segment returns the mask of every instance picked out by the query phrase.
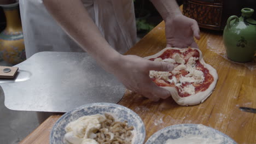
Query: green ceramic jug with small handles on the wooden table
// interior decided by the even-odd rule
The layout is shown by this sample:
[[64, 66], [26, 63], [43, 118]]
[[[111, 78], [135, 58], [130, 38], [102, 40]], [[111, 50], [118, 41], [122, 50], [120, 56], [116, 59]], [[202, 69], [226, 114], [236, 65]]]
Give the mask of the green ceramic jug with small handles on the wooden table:
[[223, 41], [228, 58], [235, 62], [252, 61], [256, 52], [256, 21], [254, 10], [243, 8], [238, 18], [229, 17], [223, 32]]

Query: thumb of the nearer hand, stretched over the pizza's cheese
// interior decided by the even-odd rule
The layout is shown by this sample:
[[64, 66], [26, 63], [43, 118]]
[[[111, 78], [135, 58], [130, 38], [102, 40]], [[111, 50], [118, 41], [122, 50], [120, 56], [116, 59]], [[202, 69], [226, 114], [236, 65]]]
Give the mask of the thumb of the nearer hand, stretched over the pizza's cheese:
[[156, 70], [156, 71], [172, 71], [174, 65], [167, 62], [149, 62], [149, 70]]

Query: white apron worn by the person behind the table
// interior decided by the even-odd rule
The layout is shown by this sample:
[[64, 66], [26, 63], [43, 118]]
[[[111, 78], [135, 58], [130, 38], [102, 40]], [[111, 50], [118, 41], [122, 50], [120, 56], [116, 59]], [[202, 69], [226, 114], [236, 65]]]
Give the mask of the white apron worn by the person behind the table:
[[[115, 50], [125, 53], [136, 43], [132, 0], [82, 2], [104, 38]], [[51, 17], [42, 0], [20, 0], [20, 13], [27, 58], [40, 51], [84, 52]]]

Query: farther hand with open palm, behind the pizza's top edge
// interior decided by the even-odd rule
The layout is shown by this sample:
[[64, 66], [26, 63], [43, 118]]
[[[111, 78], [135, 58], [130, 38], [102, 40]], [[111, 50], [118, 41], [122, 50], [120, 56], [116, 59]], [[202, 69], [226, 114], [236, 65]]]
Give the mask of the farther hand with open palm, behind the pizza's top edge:
[[197, 22], [182, 14], [165, 20], [166, 47], [197, 47], [194, 36], [200, 39]]

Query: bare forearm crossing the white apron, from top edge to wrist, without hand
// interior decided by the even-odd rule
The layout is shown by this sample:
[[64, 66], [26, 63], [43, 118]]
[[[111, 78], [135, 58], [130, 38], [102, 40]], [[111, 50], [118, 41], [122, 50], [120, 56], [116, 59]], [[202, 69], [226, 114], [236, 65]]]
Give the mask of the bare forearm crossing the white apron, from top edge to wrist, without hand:
[[43, 2], [62, 28], [100, 64], [112, 61], [111, 58], [120, 55], [103, 38], [80, 0], [44, 0]]

